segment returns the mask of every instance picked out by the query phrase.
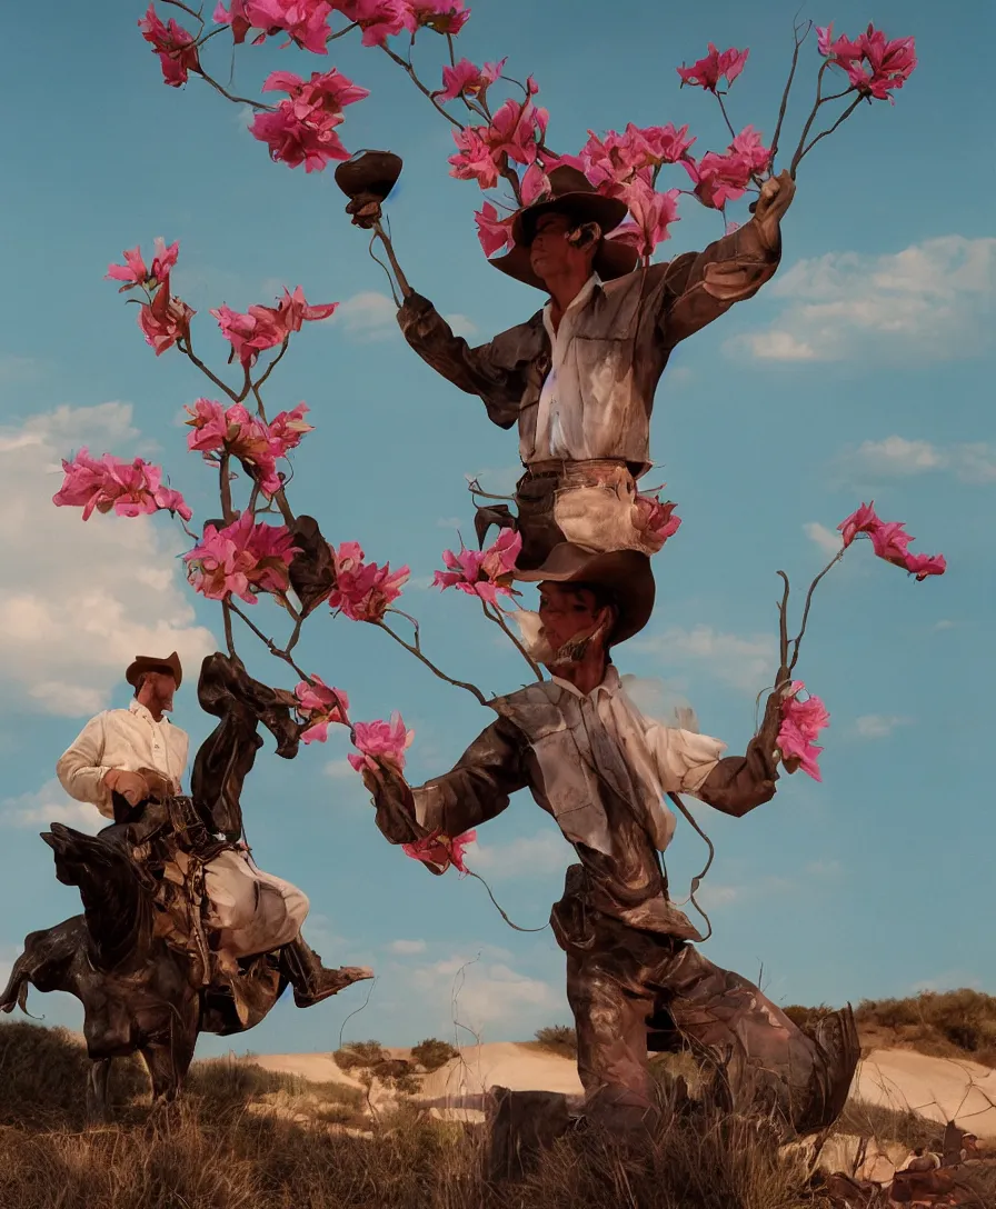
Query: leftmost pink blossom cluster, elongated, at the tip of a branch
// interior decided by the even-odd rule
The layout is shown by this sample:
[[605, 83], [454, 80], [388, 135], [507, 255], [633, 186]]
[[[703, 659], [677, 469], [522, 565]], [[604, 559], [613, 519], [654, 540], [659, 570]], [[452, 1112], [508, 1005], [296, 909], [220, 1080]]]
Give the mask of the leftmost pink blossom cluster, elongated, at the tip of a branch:
[[63, 459], [65, 479], [52, 497], [59, 508], [82, 508], [83, 520], [114, 510], [118, 516], [141, 516], [160, 510], [175, 513], [185, 521], [191, 510], [179, 491], [162, 485], [162, 469], [134, 458], [122, 462], [110, 453], [92, 458], [81, 449], [71, 462]]

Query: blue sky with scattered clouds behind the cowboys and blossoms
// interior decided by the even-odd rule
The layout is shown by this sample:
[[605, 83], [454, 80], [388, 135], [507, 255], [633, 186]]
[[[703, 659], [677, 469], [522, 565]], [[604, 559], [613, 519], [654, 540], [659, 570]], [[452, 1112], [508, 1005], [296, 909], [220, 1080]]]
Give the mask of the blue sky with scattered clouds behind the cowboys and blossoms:
[[[53, 765], [86, 718], [123, 705], [120, 673], [138, 649], [203, 652], [219, 618], [186, 588], [168, 519], [126, 521], [48, 503], [58, 457], [88, 444], [161, 462], [203, 516], [213, 476], [185, 451], [184, 404], [207, 383], [179, 355], [156, 359], [134, 314], [102, 276], [122, 248], [180, 241], [175, 289], [198, 310], [201, 354], [224, 365], [208, 310], [270, 302], [282, 284], [342, 301], [299, 336], [272, 380], [273, 410], [306, 400], [315, 432], [295, 462], [294, 504], [334, 542], [407, 562], [405, 604], [425, 647], [488, 692], [522, 683], [525, 665], [465, 597], [424, 588], [456, 525], [470, 533], [465, 476], [504, 490], [515, 438], [439, 380], [396, 334], [381, 271], [342, 214], [331, 172], [272, 164], [244, 114], [198, 87], [175, 92], [134, 22], [143, 5], [110, 0], [60, 18], [57, 42], [27, 11], [7, 22], [8, 96], [30, 98], [30, 125], [8, 138], [0, 249], [0, 960], [25, 932], [73, 914], [37, 832], [79, 821], [53, 788]], [[791, 50], [792, 4], [711, 2], [673, 10], [636, 0], [622, 22], [578, 0], [477, 0], [459, 48], [510, 56], [551, 110], [551, 141], [575, 150], [601, 131], [691, 123], [696, 151], [725, 144], [711, 98], [678, 89], [674, 65], [713, 40], [749, 46], [731, 97], [734, 122], [771, 133]], [[907, 521], [916, 549], [949, 573], [915, 584], [852, 550], [821, 588], [799, 671], [832, 712], [824, 781], [783, 779], [742, 821], [697, 815], [718, 848], [702, 901], [712, 960], [764, 970], [781, 1002], [840, 1003], [917, 987], [996, 991], [990, 787], [996, 492], [992, 325], [996, 230], [986, 83], [965, 74], [963, 37], [984, 42], [994, 15], [966, 0], [955, 25], [925, 2], [840, 0], [811, 10], [856, 33], [868, 19], [914, 34], [920, 66], [894, 108], [861, 110], [803, 164], [784, 224], [784, 260], [762, 294], [682, 346], [658, 392], [653, 453], [684, 525], [656, 561], [658, 608], [618, 663], [655, 708], [695, 706], [703, 730], [742, 750], [753, 699], [774, 673], [775, 571], [804, 588], [827, 559], [827, 531], [871, 497]], [[22, 28], [23, 27], [23, 28]], [[447, 175], [450, 135], [372, 51], [343, 40], [331, 62], [371, 89], [342, 128], [351, 149], [389, 146], [405, 173], [389, 212], [412, 284], [485, 340], [542, 301], [488, 268], [471, 213], [476, 186]], [[425, 39], [422, 62], [439, 46]], [[253, 92], [274, 65], [311, 70], [294, 50], [244, 48], [236, 81]], [[804, 57], [813, 71], [815, 47]], [[222, 65], [224, 73], [226, 66]], [[427, 68], [428, 77], [434, 70]], [[789, 115], [788, 131], [800, 114]], [[743, 218], [742, 214], [734, 216]], [[677, 254], [717, 235], [685, 204]], [[798, 614], [797, 614], [798, 615]], [[174, 642], [175, 637], [175, 642]], [[279, 665], [241, 647], [257, 675]], [[357, 718], [400, 710], [415, 728], [411, 775], [450, 767], [487, 711], [372, 629], [328, 615], [305, 631], [302, 664], [347, 689]], [[196, 744], [196, 666], [175, 719]], [[312, 943], [332, 965], [377, 968], [369, 1006], [346, 1036], [409, 1043], [451, 1036], [454, 1018], [485, 1040], [521, 1039], [568, 1018], [563, 961], [548, 932], [510, 931], [474, 880], [430, 878], [380, 837], [341, 736], [286, 764], [260, 756], [244, 794], [260, 864], [311, 897]], [[480, 837], [474, 866], [511, 916], [542, 925], [569, 852], [526, 797]], [[668, 852], [674, 893], [701, 864], [683, 822]], [[453, 1008], [454, 977], [465, 962]], [[237, 1048], [330, 1049], [365, 989], [308, 1012], [283, 1002]], [[33, 995], [50, 1022], [79, 1023], [74, 1001]], [[458, 1030], [465, 1040], [467, 1032]], [[227, 1048], [207, 1039], [202, 1052]]]

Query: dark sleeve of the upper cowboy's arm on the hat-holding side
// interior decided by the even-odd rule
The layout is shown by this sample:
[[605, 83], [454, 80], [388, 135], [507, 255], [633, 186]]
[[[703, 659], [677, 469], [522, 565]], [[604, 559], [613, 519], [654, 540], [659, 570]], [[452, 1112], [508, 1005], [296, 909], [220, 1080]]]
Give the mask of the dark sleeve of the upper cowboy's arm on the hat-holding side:
[[423, 361], [461, 391], [482, 399], [488, 418], [499, 428], [511, 428], [519, 418], [528, 368], [545, 339], [538, 316], [476, 348], [456, 336], [421, 294], [405, 299], [398, 311], [398, 323]]

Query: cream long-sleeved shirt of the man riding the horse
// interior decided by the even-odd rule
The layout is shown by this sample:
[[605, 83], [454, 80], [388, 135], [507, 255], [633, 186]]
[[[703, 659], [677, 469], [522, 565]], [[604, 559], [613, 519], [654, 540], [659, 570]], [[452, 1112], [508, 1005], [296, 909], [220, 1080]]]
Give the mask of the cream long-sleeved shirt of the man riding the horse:
[[56, 764], [62, 787], [77, 802], [89, 802], [114, 818], [104, 776], [114, 768], [137, 773], [152, 768], [169, 777], [179, 792], [186, 770], [190, 739], [164, 715], [152, 715], [132, 701], [127, 710], [105, 710], [83, 727]]

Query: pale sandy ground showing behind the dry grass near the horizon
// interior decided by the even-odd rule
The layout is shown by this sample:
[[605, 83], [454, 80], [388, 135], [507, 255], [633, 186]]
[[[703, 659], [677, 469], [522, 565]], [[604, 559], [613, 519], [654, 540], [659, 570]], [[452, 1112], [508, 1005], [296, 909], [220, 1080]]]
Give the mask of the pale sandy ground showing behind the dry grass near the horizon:
[[[394, 1057], [406, 1051], [392, 1049]], [[251, 1059], [267, 1070], [314, 1082], [358, 1087], [328, 1054], [271, 1054]], [[422, 1098], [439, 1107], [479, 1109], [490, 1087], [581, 1094], [574, 1064], [514, 1041], [463, 1051], [459, 1059], [427, 1076]], [[914, 1109], [936, 1121], [954, 1118], [980, 1138], [996, 1138], [996, 1070], [969, 1062], [927, 1058], [905, 1049], [874, 1049], [858, 1069], [852, 1092], [858, 1100]]]

